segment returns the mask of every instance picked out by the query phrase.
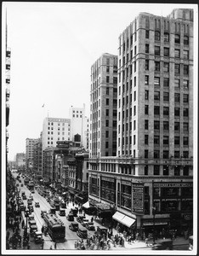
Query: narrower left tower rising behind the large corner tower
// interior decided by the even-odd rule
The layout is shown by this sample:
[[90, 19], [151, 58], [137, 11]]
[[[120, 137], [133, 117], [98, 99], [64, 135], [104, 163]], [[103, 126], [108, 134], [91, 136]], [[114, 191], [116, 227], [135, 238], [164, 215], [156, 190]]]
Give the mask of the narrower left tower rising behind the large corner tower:
[[117, 55], [91, 67], [89, 157], [117, 155]]

